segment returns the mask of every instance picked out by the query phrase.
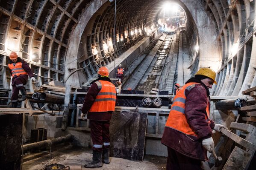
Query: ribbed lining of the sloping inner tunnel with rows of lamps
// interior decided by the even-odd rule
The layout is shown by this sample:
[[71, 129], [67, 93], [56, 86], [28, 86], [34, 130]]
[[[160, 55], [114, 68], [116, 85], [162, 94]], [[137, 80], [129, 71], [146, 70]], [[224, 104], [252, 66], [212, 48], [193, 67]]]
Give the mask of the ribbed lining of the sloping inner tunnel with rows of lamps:
[[[81, 77], [84, 75], [85, 78], [82, 81], [85, 82], [86, 79], [95, 75], [98, 67], [112, 62], [114, 60], [114, 43], [116, 46], [115, 56], [119, 57], [147, 36], [147, 33], [151, 34], [149, 30], [160, 28], [157, 20], [165, 2], [159, 2], [158, 0], [118, 0], [116, 39], [114, 39], [115, 3], [106, 1], [96, 10], [92, 8], [97, 6], [98, 3], [91, 4], [91, 9], [88, 11], [95, 10], [95, 13], [83, 14], [80, 24], [84, 27], [79, 27], [73, 32], [74, 35], [81, 35], [79, 42], [77, 38], [71, 40], [72, 45], [77, 43], [76, 46], [79, 46], [79, 49], [70, 48], [68, 52], [69, 56], [77, 56], [78, 58], [78, 68], [83, 72], [78, 77], [82, 79]], [[197, 26], [185, 4], [179, 0], [170, 2], [179, 4], [185, 10], [188, 18], [186, 27], [190, 31], [188, 38], [197, 42]], [[91, 16], [89, 16], [90, 14]], [[88, 17], [90, 17], [90, 20], [88, 20]], [[75, 58], [70, 59], [70, 61], [74, 60]], [[68, 68], [74, 67], [74, 64], [68, 66]]]

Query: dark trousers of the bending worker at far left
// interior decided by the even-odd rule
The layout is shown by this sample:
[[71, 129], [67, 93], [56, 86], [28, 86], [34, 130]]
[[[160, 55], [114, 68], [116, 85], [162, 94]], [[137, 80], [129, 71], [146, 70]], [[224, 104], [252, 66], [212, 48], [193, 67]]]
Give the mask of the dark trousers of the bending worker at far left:
[[24, 85], [26, 84], [28, 79], [28, 75], [19, 75], [13, 76], [12, 78], [12, 102], [18, 101], [18, 94], [20, 89], [24, 89]]

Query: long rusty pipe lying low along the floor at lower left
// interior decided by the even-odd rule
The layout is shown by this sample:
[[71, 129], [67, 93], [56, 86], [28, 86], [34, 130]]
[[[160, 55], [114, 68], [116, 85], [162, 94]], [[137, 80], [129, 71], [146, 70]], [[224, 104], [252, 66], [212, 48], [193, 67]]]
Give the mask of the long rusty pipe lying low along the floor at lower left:
[[65, 141], [71, 141], [73, 139], [72, 134], [68, 134], [65, 136], [61, 136], [59, 138], [52, 138], [45, 141], [39, 141], [32, 144], [25, 144], [23, 147], [21, 146], [21, 150], [23, 150], [24, 153], [35, 151], [35, 150], [41, 150], [46, 147], [51, 147], [56, 144], [61, 144]]

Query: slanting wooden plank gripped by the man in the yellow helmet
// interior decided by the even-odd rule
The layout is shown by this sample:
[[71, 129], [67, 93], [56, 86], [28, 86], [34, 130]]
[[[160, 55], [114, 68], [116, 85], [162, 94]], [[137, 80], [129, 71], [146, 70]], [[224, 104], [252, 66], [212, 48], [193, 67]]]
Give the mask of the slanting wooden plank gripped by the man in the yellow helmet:
[[227, 137], [229, 137], [230, 139], [232, 139], [233, 141], [235, 141], [236, 143], [240, 144], [243, 147], [246, 147], [249, 150], [256, 150], [256, 145], [252, 144], [251, 142], [245, 140], [244, 138], [239, 137], [238, 135], [235, 135], [234, 133], [230, 132], [227, 129], [221, 128], [221, 132], [226, 135]]

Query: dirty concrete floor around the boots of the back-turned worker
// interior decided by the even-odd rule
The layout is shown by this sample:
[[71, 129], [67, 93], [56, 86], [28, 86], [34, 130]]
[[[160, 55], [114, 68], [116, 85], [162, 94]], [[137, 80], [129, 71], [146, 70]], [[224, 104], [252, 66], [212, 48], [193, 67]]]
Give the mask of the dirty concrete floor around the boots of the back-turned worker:
[[[45, 152], [26, 153], [22, 169], [44, 170], [46, 165], [58, 163], [65, 166], [82, 166], [82, 170], [86, 170], [88, 168], [85, 168], [84, 164], [92, 158], [91, 149], [73, 147], [71, 144], [53, 147], [52, 151], [53, 157], [51, 157], [50, 153]], [[150, 155], [145, 156], [144, 161], [110, 157], [110, 164], [103, 164], [103, 167], [94, 168], [94, 170], [165, 170], [166, 159], [166, 157]]]

